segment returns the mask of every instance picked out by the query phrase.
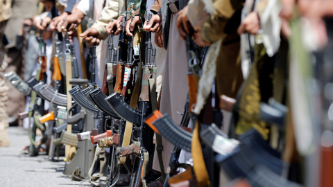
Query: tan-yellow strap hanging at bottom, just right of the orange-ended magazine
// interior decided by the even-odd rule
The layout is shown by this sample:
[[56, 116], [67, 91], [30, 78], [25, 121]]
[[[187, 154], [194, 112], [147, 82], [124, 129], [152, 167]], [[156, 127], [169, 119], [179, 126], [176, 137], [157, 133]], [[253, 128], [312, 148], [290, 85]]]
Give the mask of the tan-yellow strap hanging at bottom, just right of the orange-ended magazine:
[[203, 150], [201, 148], [201, 143], [200, 143], [199, 129], [200, 129], [200, 123], [198, 123], [198, 120], [196, 120], [196, 126], [194, 127], [193, 130], [192, 143], [191, 143], [193, 168], [199, 186], [210, 186], [210, 177], [208, 177], [208, 172], [205, 166], [205, 160], [203, 159]]

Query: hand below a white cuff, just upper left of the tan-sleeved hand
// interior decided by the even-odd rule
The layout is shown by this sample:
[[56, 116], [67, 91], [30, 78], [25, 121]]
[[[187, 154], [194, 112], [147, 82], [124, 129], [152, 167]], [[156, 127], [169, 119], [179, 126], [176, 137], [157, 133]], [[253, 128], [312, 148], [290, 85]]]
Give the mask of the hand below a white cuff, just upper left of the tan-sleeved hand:
[[69, 26], [68, 30], [75, 30], [76, 27], [81, 23], [85, 14], [81, 10], [75, 10], [75, 12], [64, 19], [60, 20], [57, 26], [58, 32], [62, 32], [63, 29]]

